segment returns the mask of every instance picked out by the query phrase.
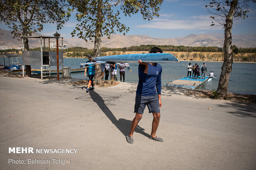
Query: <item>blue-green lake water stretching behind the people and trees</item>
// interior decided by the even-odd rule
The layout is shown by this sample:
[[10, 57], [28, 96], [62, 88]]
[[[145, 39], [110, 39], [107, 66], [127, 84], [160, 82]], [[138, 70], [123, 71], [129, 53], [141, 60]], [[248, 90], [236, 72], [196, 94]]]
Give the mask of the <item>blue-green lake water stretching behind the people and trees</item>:
[[[64, 67], [80, 68], [80, 63], [85, 63], [88, 61], [87, 58], [64, 58]], [[21, 63], [21, 61], [19, 61]], [[197, 63], [201, 67], [203, 62], [190, 61], [192, 66]], [[162, 85], [171, 80], [177, 80], [182, 77], [187, 76], [187, 65], [189, 62], [180, 61], [179, 63], [161, 63], [162, 66]], [[220, 76], [221, 67], [223, 62], [205, 62], [207, 67], [207, 75], [213, 71], [215, 76]], [[39, 69], [40, 67], [32, 67]], [[52, 66], [51, 69], [57, 69], [57, 67]], [[60, 67], [59, 69], [62, 69]], [[126, 69], [126, 82], [137, 83], [138, 78], [138, 64], [130, 63], [130, 70]], [[201, 72], [201, 71], [200, 71]], [[119, 70], [118, 70], [118, 80], [120, 80]], [[72, 78], [86, 79], [84, 77], [84, 72], [71, 73]], [[109, 76], [110, 78], [110, 76]], [[213, 78], [209, 82], [205, 82], [199, 87], [199, 89], [204, 90], [216, 90], [218, 87], [219, 78]], [[238, 94], [254, 94], [256, 95], [256, 64], [255, 63], [233, 63], [232, 72], [230, 74], [230, 82], [228, 86], [228, 92], [238, 93]]]

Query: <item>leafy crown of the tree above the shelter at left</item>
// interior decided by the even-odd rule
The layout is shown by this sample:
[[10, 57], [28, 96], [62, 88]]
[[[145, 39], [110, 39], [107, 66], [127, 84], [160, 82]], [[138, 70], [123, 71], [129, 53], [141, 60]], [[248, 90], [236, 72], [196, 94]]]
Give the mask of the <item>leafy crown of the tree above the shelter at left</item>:
[[59, 30], [70, 16], [64, 11], [64, 2], [65, 0], [1, 0], [0, 21], [8, 25], [14, 37], [18, 38], [42, 31], [44, 23], [54, 23]]

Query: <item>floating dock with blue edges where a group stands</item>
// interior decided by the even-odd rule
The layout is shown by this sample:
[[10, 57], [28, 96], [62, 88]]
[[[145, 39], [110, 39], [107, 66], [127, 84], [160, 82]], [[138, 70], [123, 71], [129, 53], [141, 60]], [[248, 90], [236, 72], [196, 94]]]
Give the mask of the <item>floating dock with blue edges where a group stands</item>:
[[206, 80], [208, 80], [209, 77], [205, 76], [204, 79], [201, 79], [201, 77], [199, 76], [198, 79], [195, 78], [188, 78], [188, 77], [184, 77], [184, 78], [180, 78], [178, 80], [173, 80], [171, 82], [168, 82], [164, 85], [167, 86], [175, 86], [175, 87], [183, 87], [183, 88], [189, 88], [189, 89], [196, 89], [197, 87], [199, 87], [201, 84], [203, 84]]

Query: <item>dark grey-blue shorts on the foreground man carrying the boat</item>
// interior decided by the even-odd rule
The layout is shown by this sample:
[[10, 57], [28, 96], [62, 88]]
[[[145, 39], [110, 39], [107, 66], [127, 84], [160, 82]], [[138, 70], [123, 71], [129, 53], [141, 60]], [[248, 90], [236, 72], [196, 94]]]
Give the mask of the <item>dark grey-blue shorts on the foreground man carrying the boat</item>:
[[149, 109], [149, 113], [160, 113], [158, 95], [142, 96], [140, 94], [136, 94], [134, 113], [142, 114], [146, 106]]

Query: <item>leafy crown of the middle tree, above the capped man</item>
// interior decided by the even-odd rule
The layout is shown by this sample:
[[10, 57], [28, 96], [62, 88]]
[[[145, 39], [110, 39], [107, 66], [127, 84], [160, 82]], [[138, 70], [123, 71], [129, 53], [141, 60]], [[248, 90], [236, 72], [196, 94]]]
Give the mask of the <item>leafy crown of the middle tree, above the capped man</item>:
[[[152, 20], [154, 16], [159, 16], [158, 11], [163, 0], [116, 0], [116, 1], [102, 1], [102, 0], [68, 0], [71, 7], [69, 12], [76, 10], [76, 24], [75, 29], [71, 33], [72, 37], [78, 36], [85, 41], [94, 41], [95, 37], [102, 37], [103, 35], [110, 38], [111, 34], [117, 32], [129, 31], [129, 27], [121, 23], [120, 11], [121, 9], [125, 16], [137, 14], [140, 12], [144, 19]], [[100, 34], [97, 33], [100, 29]]]

